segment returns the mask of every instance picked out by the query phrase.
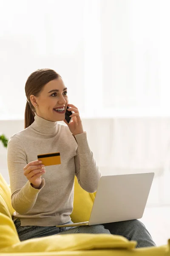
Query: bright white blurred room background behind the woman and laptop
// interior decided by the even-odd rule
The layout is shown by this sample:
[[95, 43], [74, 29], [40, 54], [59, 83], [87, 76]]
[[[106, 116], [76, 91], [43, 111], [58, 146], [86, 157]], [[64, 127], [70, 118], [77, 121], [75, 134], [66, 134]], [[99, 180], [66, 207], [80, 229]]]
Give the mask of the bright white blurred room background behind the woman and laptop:
[[[143, 222], [170, 238], [170, 1], [0, 0], [0, 133], [24, 128], [28, 76], [52, 68], [102, 175], [155, 172]], [[9, 182], [6, 149], [1, 172]]]

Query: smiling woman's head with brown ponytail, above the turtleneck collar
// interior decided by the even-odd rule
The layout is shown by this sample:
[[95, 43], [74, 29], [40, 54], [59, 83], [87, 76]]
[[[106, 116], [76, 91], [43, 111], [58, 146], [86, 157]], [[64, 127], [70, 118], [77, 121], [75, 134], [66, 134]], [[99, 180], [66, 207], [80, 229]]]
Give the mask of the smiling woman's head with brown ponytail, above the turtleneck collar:
[[[68, 105], [67, 88], [51, 69], [33, 72], [26, 81], [25, 128], [34, 122], [34, 112], [49, 121], [62, 121]], [[59, 111], [62, 109], [62, 112]], [[61, 115], [62, 114], [62, 115]]]

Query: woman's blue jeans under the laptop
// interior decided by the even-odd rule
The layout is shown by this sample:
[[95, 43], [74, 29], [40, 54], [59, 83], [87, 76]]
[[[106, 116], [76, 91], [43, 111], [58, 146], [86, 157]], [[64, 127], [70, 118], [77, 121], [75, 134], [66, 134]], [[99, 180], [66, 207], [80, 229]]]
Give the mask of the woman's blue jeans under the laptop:
[[[69, 221], [68, 223], [73, 223]], [[23, 226], [21, 227], [20, 219], [14, 221], [20, 241], [43, 237], [53, 236], [56, 234], [71, 233], [95, 233], [95, 234], [112, 234], [124, 236], [126, 239], [137, 241], [136, 247], [156, 246], [150, 233], [144, 224], [139, 220], [119, 221], [94, 226], [80, 227], [40, 227], [40, 226]]]

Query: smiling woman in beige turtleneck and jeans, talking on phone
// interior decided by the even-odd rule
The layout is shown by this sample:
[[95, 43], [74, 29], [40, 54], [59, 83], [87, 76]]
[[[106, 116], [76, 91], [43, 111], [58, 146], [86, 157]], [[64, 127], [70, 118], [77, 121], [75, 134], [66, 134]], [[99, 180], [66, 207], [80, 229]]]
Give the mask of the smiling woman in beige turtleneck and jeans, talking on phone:
[[[25, 129], [8, 142], [8, 171], [13, 216], [20, 240], [58, 233], [107, 233], [136, 240], [137, 247], [155, 246], [138, 220], [84, 227], [56, 227], [72, 223], [74, 177], [87, 192], [95, 192], [100, 178], [83, 130], [78, 109], [68, 104], [67, 88], [54, 70], [32, 73], [25, 86]], [[70, 107], [72, 122], [65, 121]], [[66, 125], [57, 121], [64, 121]], [[61, 165], [45, 166], [38, 154], [60, 152]], [[42, 178], [43, 177], [43, 178]]]

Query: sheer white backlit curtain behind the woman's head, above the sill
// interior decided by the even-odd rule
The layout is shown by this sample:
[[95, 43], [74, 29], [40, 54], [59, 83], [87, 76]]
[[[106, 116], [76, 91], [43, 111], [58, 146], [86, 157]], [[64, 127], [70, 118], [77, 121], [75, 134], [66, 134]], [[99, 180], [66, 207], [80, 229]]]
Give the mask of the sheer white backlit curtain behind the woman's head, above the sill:
[[0, 118], [23, 119], [26, 79], [43, 67], [61, 74], [82, 116], [169, 116], [169, 9], [169, 0], [1, 1]]

